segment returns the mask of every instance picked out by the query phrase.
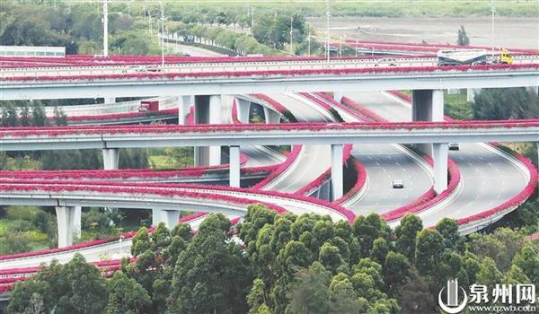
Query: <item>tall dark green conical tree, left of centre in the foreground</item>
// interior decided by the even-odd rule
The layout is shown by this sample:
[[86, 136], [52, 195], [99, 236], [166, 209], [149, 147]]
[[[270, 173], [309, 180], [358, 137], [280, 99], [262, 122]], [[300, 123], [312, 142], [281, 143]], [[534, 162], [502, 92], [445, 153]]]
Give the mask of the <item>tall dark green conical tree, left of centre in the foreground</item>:
[[252, 275], [240, 248], [228, 242], [218, 216], [211, 214], [202, 222], [199, 233], [178, 257], [167, 300], [168, 312], [247, 311], [245, 297]]

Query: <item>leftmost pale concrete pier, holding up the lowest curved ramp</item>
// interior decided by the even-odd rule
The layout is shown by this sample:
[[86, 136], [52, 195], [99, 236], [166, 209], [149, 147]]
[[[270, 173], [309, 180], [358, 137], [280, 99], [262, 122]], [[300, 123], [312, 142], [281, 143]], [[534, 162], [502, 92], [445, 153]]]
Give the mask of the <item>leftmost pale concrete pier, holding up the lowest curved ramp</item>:
[[57, 206], [58, 248], [73, 244], [81, 235], [81, 206]]

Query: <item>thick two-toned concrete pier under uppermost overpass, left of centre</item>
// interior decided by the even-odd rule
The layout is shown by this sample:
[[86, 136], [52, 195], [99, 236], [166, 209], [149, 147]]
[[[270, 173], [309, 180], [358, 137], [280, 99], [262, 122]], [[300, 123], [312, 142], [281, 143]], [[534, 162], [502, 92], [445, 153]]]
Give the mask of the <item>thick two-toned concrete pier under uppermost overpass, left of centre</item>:
[[[221, 96], [195, 96], [195, 124], [221, 123]], [[221, 146], [195, 147], [195, 165], [221, 164]]]

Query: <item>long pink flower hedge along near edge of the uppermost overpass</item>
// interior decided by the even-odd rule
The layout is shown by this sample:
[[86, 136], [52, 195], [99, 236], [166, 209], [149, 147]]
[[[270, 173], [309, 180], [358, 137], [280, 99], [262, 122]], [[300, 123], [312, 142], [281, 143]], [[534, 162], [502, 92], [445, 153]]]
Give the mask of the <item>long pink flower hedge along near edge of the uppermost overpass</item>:
[[96, 80], [181, 80], [183, 78], [218, 77], [267, 77], [267, 76], [308, 76], [308, 75], [383, 75], [383, 74], [432, 74], [459, 72], [526, 71], [537, 70], [539, 64], [513, 65], [456, 65], [456, 66], [395, 66], [373, 68], [330, 68], [303, 70], [260, 70], [260, 71], [220, 71], [199, 73], [143, 73], [143, 74], [85, 74], [85, 75], [43, 75], [23, 77], [2, 77], [0, 81], [76, 81], [93, 82]]

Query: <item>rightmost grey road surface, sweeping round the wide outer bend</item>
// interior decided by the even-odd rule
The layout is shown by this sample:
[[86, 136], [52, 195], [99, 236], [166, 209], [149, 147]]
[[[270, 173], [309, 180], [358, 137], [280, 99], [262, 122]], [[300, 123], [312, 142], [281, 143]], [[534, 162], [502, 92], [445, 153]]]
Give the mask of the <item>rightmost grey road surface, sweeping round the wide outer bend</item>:
[[[367, 109], [391, 121], [410, 121], [411, 107], [402, 101], [390, 99], [381, 92], [347, 94]], [[459, 166], [462, 192], [450, 204], [429, 209], [419, 214], [426, 227], [441, 218], [464, 218], [485, 212], [508, 201], [526, 187], [526, 175], [499, 150], [486, 144], [461, 144], [460, 151], [451, 151], [449, 157]]]

